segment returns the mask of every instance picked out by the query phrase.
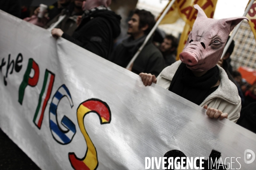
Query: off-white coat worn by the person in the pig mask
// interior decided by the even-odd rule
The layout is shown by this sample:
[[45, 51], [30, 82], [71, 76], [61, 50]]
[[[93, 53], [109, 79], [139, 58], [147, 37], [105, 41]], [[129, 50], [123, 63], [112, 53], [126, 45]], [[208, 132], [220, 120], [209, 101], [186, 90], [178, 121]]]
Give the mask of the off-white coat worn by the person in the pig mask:
[[[157, 85], [168, 90], [180, 64], [181, 61], [177, 61], [163, 69], [157, 77]], [[215, 108], [223, 113], [228, 113], [227, 119], [236, 122], [240, 117], [241, 98], [236, 85], [228, 79], [224, 69], [219, 66], [218, 68], [220, 70], [220, 85], [200, 106], [208, 105], [208, 108]]]

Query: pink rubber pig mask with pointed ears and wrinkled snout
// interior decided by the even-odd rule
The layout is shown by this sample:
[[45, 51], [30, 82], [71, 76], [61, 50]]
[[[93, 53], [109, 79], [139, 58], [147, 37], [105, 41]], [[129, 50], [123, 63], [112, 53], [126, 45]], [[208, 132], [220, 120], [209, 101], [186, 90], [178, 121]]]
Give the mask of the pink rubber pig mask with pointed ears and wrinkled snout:
[[198, 14], [180, 60], [192, 71], [207, 71], [217, 65], [230, 32], [247, 17], [216, 20], [207, 18], [198, 5], [194, 8]]

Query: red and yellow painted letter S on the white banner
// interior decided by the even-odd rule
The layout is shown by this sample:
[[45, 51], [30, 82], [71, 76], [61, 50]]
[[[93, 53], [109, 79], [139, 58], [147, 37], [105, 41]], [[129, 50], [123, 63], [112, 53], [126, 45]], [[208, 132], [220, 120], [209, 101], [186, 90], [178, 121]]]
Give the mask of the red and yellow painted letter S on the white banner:
[[88, 99], [79, 105], [77, 109], [77, 120], [81, 133], [84, 135], [87, 150], [82, 159], [77, 158], [75, 153], [69, 153], [70, 163], [75, 170], [95, 170], [99, 164], [96, 148], [84, 127], [84, 116], [91, 112], [99, 116], [101, 125], [111, 122], [111, 111], [107, 103], [99, 99]]

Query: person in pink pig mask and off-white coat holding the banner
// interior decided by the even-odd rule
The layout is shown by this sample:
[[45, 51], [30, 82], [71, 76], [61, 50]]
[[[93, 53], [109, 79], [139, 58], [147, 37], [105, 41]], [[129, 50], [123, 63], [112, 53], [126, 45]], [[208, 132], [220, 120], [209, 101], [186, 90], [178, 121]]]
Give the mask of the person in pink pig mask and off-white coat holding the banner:
[[217, 63], [230, 32], [247, 18], [216, 20], [207, 18], [198, 5], [194, 8], [198, 15], [180, 60], [163, 69], [157, 78], [147, 73], [140, 73], [140, 77], [145, 86], [154, 82], [204, 107], [210, 118], [236, 122], [240, 116], [241, 99], [236, 85]]

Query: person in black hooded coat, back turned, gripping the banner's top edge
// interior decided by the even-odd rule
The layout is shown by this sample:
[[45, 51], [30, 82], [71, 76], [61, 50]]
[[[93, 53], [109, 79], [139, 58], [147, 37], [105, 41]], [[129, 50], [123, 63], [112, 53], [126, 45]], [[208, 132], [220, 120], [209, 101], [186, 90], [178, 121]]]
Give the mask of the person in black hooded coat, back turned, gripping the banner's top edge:
[[83, 2], [84, 14], [81, 23], [72, 36], [59, 28], [52, 29], [53, 37], [63, 37], [94, 54], [108, 59], [113, 40], [120, 34], [121, 17], [111, 11], [108, 6], [111, 0], [86, 0]]

